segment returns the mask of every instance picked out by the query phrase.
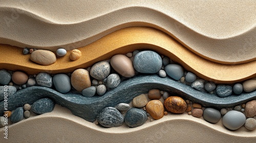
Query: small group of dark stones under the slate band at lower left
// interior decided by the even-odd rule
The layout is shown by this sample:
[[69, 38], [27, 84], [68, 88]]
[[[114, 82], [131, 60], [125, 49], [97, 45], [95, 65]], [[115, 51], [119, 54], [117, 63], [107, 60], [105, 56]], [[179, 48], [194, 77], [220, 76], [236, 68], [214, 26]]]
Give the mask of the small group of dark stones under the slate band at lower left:
[[32, 106], [25, 104], [23, 107], [18, 107], [13, 111], [5, 111], [4, 116], [0, 116], [0, 127], [5, 127], [6, 120], [9, 120], [12, 123], [17, 123], [24, 118], [29, 118], [31, 112], [35, 114], [44, 114], [51, 112], [54, 108], [54, 102], [49, 98], [43, 98], [35, 101]]

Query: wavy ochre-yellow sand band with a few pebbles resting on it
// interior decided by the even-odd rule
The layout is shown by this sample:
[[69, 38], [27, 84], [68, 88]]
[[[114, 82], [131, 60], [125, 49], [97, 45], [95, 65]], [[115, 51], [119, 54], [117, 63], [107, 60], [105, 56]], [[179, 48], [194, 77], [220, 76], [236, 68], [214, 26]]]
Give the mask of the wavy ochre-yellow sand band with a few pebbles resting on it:
[[134, 50], [153, 50], [168, 56], [180, 63], [186, 70], [208, 81], [236, 83], [256, 77], [256, 61], [233, 65], [215, 63], [189, 51], [164, 32], [148, 27], [130, 27], [115, 31], [89, 45], [78, 48], [82, 52], [80, 59], [71, 61], [70, 51], [68, 51], [66, 56], [58, 58], [54, 64], [48, 66], [33, 63], [30, 61], [30, 54], [23, 55], [21, 48], [0, 44], [0, 49], [2, 51], [1, 69], [23, 70], [29, 75], [40, 72], [68, 73], [77, 68], [90, 67], [116, 54], [126, 54]]

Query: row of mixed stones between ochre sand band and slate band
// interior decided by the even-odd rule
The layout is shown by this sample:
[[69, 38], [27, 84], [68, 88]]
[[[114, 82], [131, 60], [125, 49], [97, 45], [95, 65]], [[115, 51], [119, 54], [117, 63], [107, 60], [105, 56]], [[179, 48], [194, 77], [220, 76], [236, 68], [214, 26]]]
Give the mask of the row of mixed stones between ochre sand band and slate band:
[[[247, 80], [243, 82], [243, 84], [234, 84], [233, 87], [224, 84], [220, 84], [216, 87], [215, 83], [199, 79], [195, 74], [184, 71], [182, 66], [173, 63], [168, 57], [161, 57], [153, 51], [139, 52], [137, 50], [133, 53], [127, 53], [126, 56], [115, 55], [110, 61], [95, 63], [92, 67], [87, 68], [87, 70], [82, 68], [77, 69], [72, 73], [72, 76], [57, 74], [53, 78], [53, 83], [55, 83], [56, 90], [61, 93], [69, 92], [72, 85], [77, 91], [83, 90], [82, 94], [84, 96], [93, 97], [96, 90], [97, 94], [102, 96], [107, 89], [117, 87], [121, 81], [118, 74], [110, 74], [111, 66], [119, 75], [126, 78], [133, 77], [138, 74], [138, 72], [145, 74], [158, 73], [162, 78], [166, 77], [167, 74], [169, 77], [197, 90], [216, 93], [220, 97], [230, 96], [232, 92], [240, 94], [243, 90], [245, 92], [256, 90], [255, 79]], [[92, 83], [90, 76], [94, 78]], [[16, 71], [11, 76], [8, 71], [3, 69], [0, 70], [0, 77], [3, 77], [0, 79], [0, 84], [3, 85], [12, 85], [12, 83], [9, 83], [12, 79], [14, 83], [22, 85], [23, 88], [36, 85], [36, 83], [40, 86], [52, 87], [52, 76], [47, 73], [38, 74], [36, 76], [36, 82], [33, 78], [28, 79], [28, 76], [21, 71]], [[92, 84], [94, 86], [92, 86]]]

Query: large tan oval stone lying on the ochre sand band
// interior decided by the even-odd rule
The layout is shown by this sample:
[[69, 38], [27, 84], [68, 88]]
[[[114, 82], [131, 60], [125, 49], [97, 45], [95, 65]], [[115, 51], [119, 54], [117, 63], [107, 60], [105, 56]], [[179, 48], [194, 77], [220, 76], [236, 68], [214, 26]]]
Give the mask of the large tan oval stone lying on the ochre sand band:
[[30, 60], [41, 65], [50, 65], [56, 62], [56, 56], [51, 51], [36, 50], [31, 53]]

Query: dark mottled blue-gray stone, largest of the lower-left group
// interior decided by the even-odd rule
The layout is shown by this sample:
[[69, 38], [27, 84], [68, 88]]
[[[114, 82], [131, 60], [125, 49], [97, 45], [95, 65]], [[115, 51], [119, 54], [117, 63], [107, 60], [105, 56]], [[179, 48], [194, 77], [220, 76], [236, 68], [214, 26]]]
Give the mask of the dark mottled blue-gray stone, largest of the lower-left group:
[[39, 99], [32, 105], [32, 111], [37, 114], [51, 112], [54, 108], [54, 102], [49, 98]]

